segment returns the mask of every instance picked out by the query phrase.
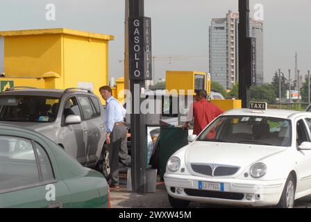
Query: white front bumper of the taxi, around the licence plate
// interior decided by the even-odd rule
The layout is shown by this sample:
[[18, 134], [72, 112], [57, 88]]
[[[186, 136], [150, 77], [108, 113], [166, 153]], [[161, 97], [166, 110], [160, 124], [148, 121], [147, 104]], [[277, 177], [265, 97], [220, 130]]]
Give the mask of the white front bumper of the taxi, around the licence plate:
[[[286, 179], [269, 181], [240, 180], [235, 178], [203, 178], [169, 173], [165, 173], [164, 179], [167, 192], [173, 198], [201, 203], [253, 207], [277, 205], [286, 182]], [[224, 189], [223, 191], [199, 189], [199, 181], [223, 183]], [[177, 188], [180, 188], [178, 192]]]

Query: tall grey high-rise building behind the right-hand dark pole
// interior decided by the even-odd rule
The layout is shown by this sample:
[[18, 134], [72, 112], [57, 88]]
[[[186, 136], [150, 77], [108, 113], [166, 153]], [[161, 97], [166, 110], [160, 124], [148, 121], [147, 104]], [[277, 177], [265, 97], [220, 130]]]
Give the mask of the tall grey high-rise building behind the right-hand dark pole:
[[[211, 79], [224, 89], [238, 80], [239, 14], [229, 11], [225, 18], [212, 19], [209, 27]], [[250, 37], [256, 37], [256, 84], [263, 83], [263, 22], [250, 19]]]

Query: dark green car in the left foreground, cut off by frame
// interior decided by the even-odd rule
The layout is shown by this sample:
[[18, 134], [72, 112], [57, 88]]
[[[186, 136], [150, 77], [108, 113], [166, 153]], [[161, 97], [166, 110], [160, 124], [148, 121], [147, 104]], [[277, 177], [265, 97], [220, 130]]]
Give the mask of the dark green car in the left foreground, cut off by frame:
[[109, 207], [103, 175], [47, 137], [0, 125], [0, 208]]

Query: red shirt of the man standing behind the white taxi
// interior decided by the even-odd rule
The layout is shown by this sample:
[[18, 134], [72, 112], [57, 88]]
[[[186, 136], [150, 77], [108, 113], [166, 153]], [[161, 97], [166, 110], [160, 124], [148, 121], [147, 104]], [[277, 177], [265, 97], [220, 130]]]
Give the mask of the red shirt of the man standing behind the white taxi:
[[193, 117], [194, 117], [194, 128], [193, 134], [199, 135], [202, 130], [208, 124], [213, 121], [216, 117], [222, 114], [224, 111], [221, 110], [217, 105], [210, 103], [205, 99], [193, 103]]

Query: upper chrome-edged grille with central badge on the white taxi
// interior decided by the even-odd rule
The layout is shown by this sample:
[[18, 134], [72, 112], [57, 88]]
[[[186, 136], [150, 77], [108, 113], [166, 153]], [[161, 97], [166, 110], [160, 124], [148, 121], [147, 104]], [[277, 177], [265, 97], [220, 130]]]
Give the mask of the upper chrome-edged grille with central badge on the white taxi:
[[207, 176], [231, 176], [239, 171], [239, 167], [217, 164], [191, 164], [191, 168], [194, 172]]

